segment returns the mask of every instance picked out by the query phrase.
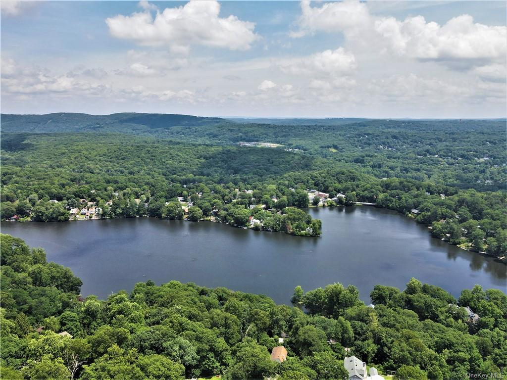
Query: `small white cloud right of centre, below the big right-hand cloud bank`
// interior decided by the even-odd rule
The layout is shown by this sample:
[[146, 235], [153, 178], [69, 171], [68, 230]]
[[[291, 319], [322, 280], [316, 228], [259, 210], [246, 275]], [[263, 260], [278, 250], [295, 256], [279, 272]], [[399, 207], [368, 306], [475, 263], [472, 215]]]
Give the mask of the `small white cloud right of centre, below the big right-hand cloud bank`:
[[280, 63], [283, 72], [291, 74], [343, 74], [356, 67], [355, 57], [343, 48], [325, 50], [308, 57], [289, 60]]

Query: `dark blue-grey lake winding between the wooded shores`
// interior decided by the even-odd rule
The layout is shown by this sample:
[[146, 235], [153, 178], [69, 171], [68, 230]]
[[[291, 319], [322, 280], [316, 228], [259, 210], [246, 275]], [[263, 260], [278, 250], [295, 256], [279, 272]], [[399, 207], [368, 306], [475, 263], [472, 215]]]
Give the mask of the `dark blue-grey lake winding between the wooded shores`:
[[475, 284], [505, 292], [504, 264], [433, 239], [401, 214], [368, 206], [309, 212], [322, 220], [320, 238], [157, 218], [2, 222], [2, 233], [43, 247], [48, 261], [83, 280], [83, 295], [101, 298], [149, 279], [225, 286], [277, 303], [289, 303], [297, 285], [334, 282], [357, 286], [368, 302], [374, 285], [404, 289], [411, 277], [455, 296]]

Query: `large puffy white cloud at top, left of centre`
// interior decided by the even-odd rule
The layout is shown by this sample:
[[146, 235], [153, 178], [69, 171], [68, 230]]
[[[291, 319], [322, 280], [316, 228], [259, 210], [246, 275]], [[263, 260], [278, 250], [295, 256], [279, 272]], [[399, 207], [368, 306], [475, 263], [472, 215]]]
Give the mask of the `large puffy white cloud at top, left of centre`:
[[107, 18], [106, 23], [119, 39], [144, 46], [169, 46], [178, 53], [187, 53], [192, 45], [247, 50], [258, 39], [254, 23], [233, 15], [221, 18], [219, 14], [217, 1], [191, 0], [182, 7], [157, 11], [155, 18], [146, 10]]

